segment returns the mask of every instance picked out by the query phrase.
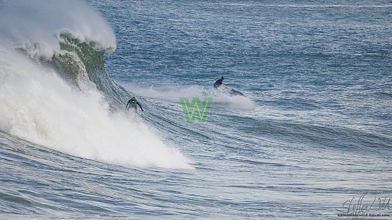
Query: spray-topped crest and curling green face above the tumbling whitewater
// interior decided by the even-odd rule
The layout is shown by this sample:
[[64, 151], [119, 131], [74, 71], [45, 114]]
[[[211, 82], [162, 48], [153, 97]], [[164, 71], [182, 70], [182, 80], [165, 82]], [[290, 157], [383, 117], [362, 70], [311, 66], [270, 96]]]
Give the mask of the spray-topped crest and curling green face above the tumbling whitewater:
[[116, 48], [115, 34], [91, 7], [81, 1], [9, 1], [0, 18], [5, 45], [55, 69], [71, 85], [81, 88], [91, 81], [123, 102], [125, 90], [104, 68], [105, 53]]

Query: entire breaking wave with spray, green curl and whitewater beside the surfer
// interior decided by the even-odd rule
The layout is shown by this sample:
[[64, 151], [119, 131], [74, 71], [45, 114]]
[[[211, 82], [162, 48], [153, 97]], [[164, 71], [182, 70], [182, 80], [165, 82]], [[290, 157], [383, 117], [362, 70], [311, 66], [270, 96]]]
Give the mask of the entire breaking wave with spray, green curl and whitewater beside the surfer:
[[137, 115], [104, 56], [108, 23], [81, 1], [4, 1], [0, 9], [0, 132], [77, 157], [190, 168]]

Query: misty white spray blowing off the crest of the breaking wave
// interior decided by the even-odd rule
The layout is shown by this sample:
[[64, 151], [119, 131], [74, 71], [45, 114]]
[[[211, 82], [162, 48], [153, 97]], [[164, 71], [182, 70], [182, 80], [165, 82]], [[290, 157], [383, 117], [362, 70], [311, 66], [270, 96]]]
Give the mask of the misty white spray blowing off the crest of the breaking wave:
[[116, 47], [113, 29], [98, 11], [82, 1], [2, 1], [2, 43], [25, 48], [34, 57], [51, 58], [60, 51], [61, 33], [71, 33], [81, 41], [94, 41], [113, 51]]

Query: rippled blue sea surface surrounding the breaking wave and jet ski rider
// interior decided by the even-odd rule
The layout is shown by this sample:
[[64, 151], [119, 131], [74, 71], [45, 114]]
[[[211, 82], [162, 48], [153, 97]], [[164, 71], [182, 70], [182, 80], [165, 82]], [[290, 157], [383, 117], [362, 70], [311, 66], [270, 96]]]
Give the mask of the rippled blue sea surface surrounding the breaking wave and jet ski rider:
[[[137, 139], [190, 162], [166, 166], [143, 141], [116, 150], [154, 157], [100, 162], [2, 132], [0, 218], [391, 218], [391, 3], [88, 4], [117, 38], [105, 69], [145, 109], [129, 117], [154, 135]], [[246, 97], [213, 90], [222, 75]], [[180, 98], [203, 91], [207, 120], [188, 123]], [[108, 147], [121, 145], [110, 128]]]

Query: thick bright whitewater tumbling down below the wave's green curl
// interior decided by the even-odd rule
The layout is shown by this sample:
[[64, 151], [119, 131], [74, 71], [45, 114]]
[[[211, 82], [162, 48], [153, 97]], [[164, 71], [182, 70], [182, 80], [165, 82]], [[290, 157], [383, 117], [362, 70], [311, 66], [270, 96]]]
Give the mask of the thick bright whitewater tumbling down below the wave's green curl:
[[0, 50], [0, 131], [78, 157], [138, 167], [192, 168], [135, 115], [108, 115], [97, 90]]

